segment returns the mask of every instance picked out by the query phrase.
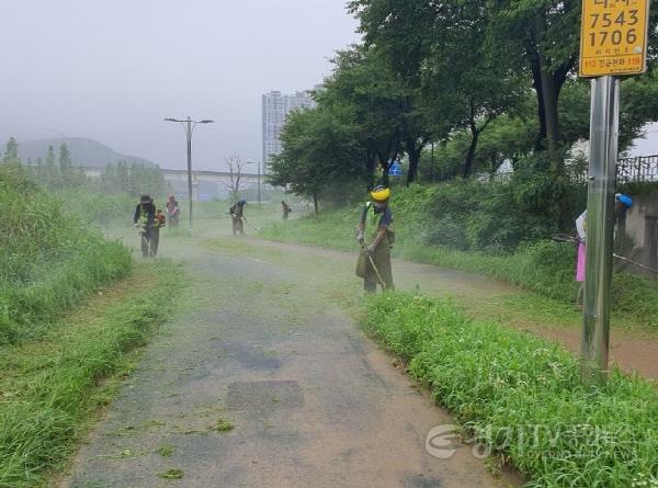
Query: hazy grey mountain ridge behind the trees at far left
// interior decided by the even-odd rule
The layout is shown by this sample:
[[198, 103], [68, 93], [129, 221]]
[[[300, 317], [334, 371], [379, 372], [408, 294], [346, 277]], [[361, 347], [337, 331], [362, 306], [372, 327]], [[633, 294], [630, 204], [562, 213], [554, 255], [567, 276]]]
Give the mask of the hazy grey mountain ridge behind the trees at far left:
[[[122, 155], [98, 140], [87, 139], [84, 137], [65, 137], [64, 139], [27, 141], [19, 140], [19, 157], [23, 161], [27, 161], [27, 158], [32, 159], [32, 161], [36, 161], [37, 158], [45, 160], [48, 152], [48, 146], [53, 146], [55, 149], [55, 157], [57, 158], [61, 143], [66, 143], [68, 146], [71, 151], [71, 159], [76, 166], [104, 168], [109, 162], [116, 163], [122, 159], [128, 161], [128, 164], [133, 162], [155, 164], [154, 162], [137, 156]], [[4, 144], [0, 146], [0, 154], [4, 152]]]

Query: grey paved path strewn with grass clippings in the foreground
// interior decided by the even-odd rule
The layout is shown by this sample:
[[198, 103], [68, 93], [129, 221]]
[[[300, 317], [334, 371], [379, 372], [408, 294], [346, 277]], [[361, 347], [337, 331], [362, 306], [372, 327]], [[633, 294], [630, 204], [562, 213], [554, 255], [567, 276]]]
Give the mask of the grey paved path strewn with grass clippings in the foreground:
[[494, 479], [465, 446], [445, 461], [428, 454], [428, 431], [451, 418], [345, 315], [360, 295], [347, 256], [163, 237], [162, 254], [183, 260], [192, 284], [61, 487], [515, 483]]

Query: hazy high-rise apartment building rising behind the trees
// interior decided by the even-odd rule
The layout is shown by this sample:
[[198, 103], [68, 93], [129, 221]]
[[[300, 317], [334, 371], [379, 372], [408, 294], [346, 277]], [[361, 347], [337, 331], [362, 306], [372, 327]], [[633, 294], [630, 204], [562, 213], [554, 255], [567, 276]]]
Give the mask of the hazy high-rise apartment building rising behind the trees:
[[263, 99], [263, 170], [266, 173], [272, 156], [281, 154], [281, 129], [287, 114], [297, 109], [313, 109], [316, 103], [307, 91], [286, 95], [271, 91]]

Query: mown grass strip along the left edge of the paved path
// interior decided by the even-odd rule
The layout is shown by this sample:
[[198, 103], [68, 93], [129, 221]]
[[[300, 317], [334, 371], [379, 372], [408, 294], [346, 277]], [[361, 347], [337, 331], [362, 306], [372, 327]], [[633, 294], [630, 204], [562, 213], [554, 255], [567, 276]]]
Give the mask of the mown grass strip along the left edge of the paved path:
[[[168, 314], [180, 270], [167, 262], [52, 324], [38, 340], [0, 347], [0, 487], [43, 486], [75, 451], [94, 412]], [[114, 376], [113, 376], [114, 375]], [[114, 377], [114, 382], [105, 378]]]

